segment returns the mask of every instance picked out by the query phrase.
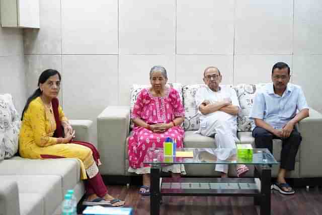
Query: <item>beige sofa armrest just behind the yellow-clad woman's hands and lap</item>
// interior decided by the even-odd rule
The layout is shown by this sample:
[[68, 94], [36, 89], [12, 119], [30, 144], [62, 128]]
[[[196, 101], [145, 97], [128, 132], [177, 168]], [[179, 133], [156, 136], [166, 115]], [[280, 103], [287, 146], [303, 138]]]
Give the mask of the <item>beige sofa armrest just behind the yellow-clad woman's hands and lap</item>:
[[78, 141], [90, 141], [90, 128], [93, 124], [92, 120], [69, 120], [71, 127], [75, 130], [75, 139]]

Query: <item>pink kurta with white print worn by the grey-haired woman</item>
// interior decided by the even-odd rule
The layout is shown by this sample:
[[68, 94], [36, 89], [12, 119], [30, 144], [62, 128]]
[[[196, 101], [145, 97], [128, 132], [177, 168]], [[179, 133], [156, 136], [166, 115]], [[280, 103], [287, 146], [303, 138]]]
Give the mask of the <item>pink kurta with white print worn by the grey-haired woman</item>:
[[[168, 89], [164, 97], [153, 97], [148, 89], [143, 89], [138, 94], [131, 118], [156, 124], [170, 123], [175, 118], [184, 116], [180, 95], [175, 89]], [[135, 126], [133, 135], [129, 138], [129, 166], [133, 169], [148, 167], [149, 165], [143, 164], [147, 149], [162, 148], [168, 136], [177, 139], [177, 148], [182, 148], [184, 134], [181, 126], [169, 128], [164, 133], [154, 133], [144, 127]], [[147, 156], [145, 159], [152, 158]]]

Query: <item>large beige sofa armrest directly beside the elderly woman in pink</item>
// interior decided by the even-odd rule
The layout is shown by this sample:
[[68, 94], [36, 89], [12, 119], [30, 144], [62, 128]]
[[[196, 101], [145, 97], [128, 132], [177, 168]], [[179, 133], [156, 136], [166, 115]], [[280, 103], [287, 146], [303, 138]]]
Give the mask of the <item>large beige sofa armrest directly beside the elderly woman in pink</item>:
[[97, 117], [102, 175], [125, 175], [125, 140], [129, 127], [129, 106], [109, 106]]

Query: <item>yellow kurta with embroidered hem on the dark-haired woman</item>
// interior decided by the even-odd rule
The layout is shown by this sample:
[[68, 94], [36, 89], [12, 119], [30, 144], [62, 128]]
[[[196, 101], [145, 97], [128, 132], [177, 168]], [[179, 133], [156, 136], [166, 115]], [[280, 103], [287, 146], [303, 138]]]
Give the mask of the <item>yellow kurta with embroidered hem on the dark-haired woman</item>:
[[[61, 106], [58, 106], [60, 121], [68, 121]], [[40, 97], [30, 102], [24, 113], [19, 137], [21, 157], [43, 159], [41, 155], [52, 155], [64, 158], [77, 158], [81, 161], [82, 179], [98, 173], [98, 167], [92, 156], [92, 150], [77, 144], [57, 144], [53, 137], [56, 122], [53, 111], [44, 105]], [[87, 174], [86, 174], [87, 173]]]

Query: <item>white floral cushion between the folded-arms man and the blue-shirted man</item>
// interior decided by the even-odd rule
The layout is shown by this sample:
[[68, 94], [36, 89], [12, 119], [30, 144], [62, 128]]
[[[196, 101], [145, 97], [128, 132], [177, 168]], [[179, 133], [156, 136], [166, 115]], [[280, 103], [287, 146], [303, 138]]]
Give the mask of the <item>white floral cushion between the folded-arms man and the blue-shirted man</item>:
[[256, 91], [263, 88], [266, 84], [247, 85], [240, 84], [234, 86], [240, 105], [240, 112], [237, 115], [237, 131], [251, 131], [254, 120], [249, 118], [251, 108], [254, 103]]

